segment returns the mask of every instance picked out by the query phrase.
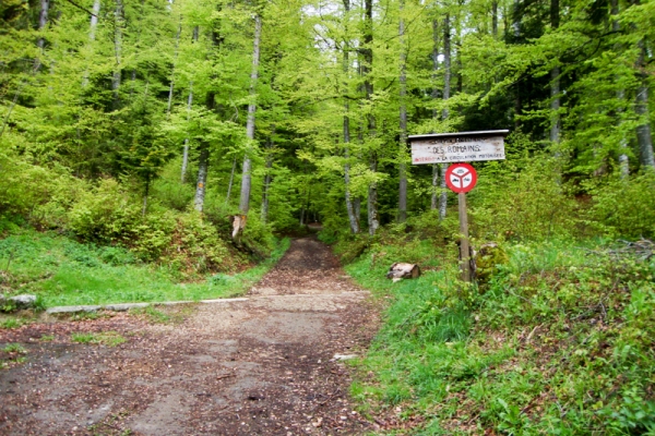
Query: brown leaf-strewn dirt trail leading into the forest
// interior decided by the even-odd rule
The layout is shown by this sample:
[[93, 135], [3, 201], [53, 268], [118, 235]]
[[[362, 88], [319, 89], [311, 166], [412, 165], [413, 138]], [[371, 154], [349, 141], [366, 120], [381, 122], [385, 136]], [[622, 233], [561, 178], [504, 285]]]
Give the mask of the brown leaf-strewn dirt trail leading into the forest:
[[[315, 239], [295, 240], [247, 302], [170, 308], [176, 324], [119, 314], [0, 330], [27, 362], [0, 371], [0, 434], [357, 435], [349, 370], [374, 311]], [[72, 332], [117, 331], [110, 348]], [[44, 335], [53, 336], [45, 342]]]

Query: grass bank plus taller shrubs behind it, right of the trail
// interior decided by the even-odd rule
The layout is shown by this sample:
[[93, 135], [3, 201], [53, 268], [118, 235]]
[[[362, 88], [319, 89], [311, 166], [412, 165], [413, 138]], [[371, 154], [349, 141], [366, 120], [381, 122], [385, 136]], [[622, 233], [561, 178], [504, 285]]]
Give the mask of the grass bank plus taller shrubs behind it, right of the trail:
[[[502, 202], [472, 195], [474, 245], [493, 237], [507, 254], [477, 286], [458, 280], [452, 213], [372, 240], [323, 235], [389, 302], [352, 393], [364, 413], [396, 415], [390, 434], [655, 434], [651, 175], [579, 199], [541, 181]], [[393, 283], [394, 262], [424, 274]]]

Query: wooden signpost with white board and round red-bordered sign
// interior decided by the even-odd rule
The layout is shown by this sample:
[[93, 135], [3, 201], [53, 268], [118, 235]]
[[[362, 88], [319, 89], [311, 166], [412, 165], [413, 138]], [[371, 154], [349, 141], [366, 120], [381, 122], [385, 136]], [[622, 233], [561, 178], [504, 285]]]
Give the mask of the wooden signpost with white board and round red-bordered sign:
[[445, 171], [445, 184], [457, 194], [462, 234], [460, 268], [462, 280], [467, 282], [472, 277], [466, 193], [475, 187], [477, 172], [465, 162], [504, 159], [504, 137], [508, 133], [508, 130], [490, 130], [408, 136], [412, 143], [412, 164], [456, 162]]

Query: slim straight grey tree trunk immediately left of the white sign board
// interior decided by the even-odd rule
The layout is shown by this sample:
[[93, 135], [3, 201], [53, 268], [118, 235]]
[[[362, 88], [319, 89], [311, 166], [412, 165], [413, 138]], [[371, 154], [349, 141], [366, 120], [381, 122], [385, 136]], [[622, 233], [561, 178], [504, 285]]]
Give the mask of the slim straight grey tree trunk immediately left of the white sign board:
[[400, 2], [400, 23], [398, 23], [398, 38], [401, 43], [401, 75], [398, 77], [400, 83], [400, 128], [401, 128], [401, 137], [400, 137], [400, 149], [398, 149], [398, 222], [405, 222], [407, 220], [407, 164], [405, 162], [405, 157], [407, 155], [407, 106], [406, 106], [406, 95], [407, 95], [407, 53], [405, 48], [405, 20], [403, 19], [403, 12], [405, 9], [405, 1], [401, 0]]

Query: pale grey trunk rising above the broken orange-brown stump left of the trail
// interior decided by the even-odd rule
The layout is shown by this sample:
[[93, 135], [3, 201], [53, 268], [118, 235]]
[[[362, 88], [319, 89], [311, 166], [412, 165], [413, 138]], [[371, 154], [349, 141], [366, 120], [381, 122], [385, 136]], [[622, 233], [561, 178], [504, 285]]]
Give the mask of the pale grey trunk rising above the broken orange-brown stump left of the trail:
[[[254, 40], [252, 44], [252, 70], [250, 72], [250, 104], [248, 105], [248, 120], [246, 122], [246, 136], [248, 137], [248, 147], [253, 146], [254, 142], [254, 112], [257, 104], [254, 101], [257, 80], [259, 76], [259, 60], [260, 60], [260, 39], [262, 34], [262, 19], [259, 14], [254, 15]], [[251, 149], [246, 150], [243, 158], [243, 175], [241, 177], [241, 198], [239, 202], [239, 210], [241, 215], [248, 215], [250, 209], [250, 187], [251, 187]]]

